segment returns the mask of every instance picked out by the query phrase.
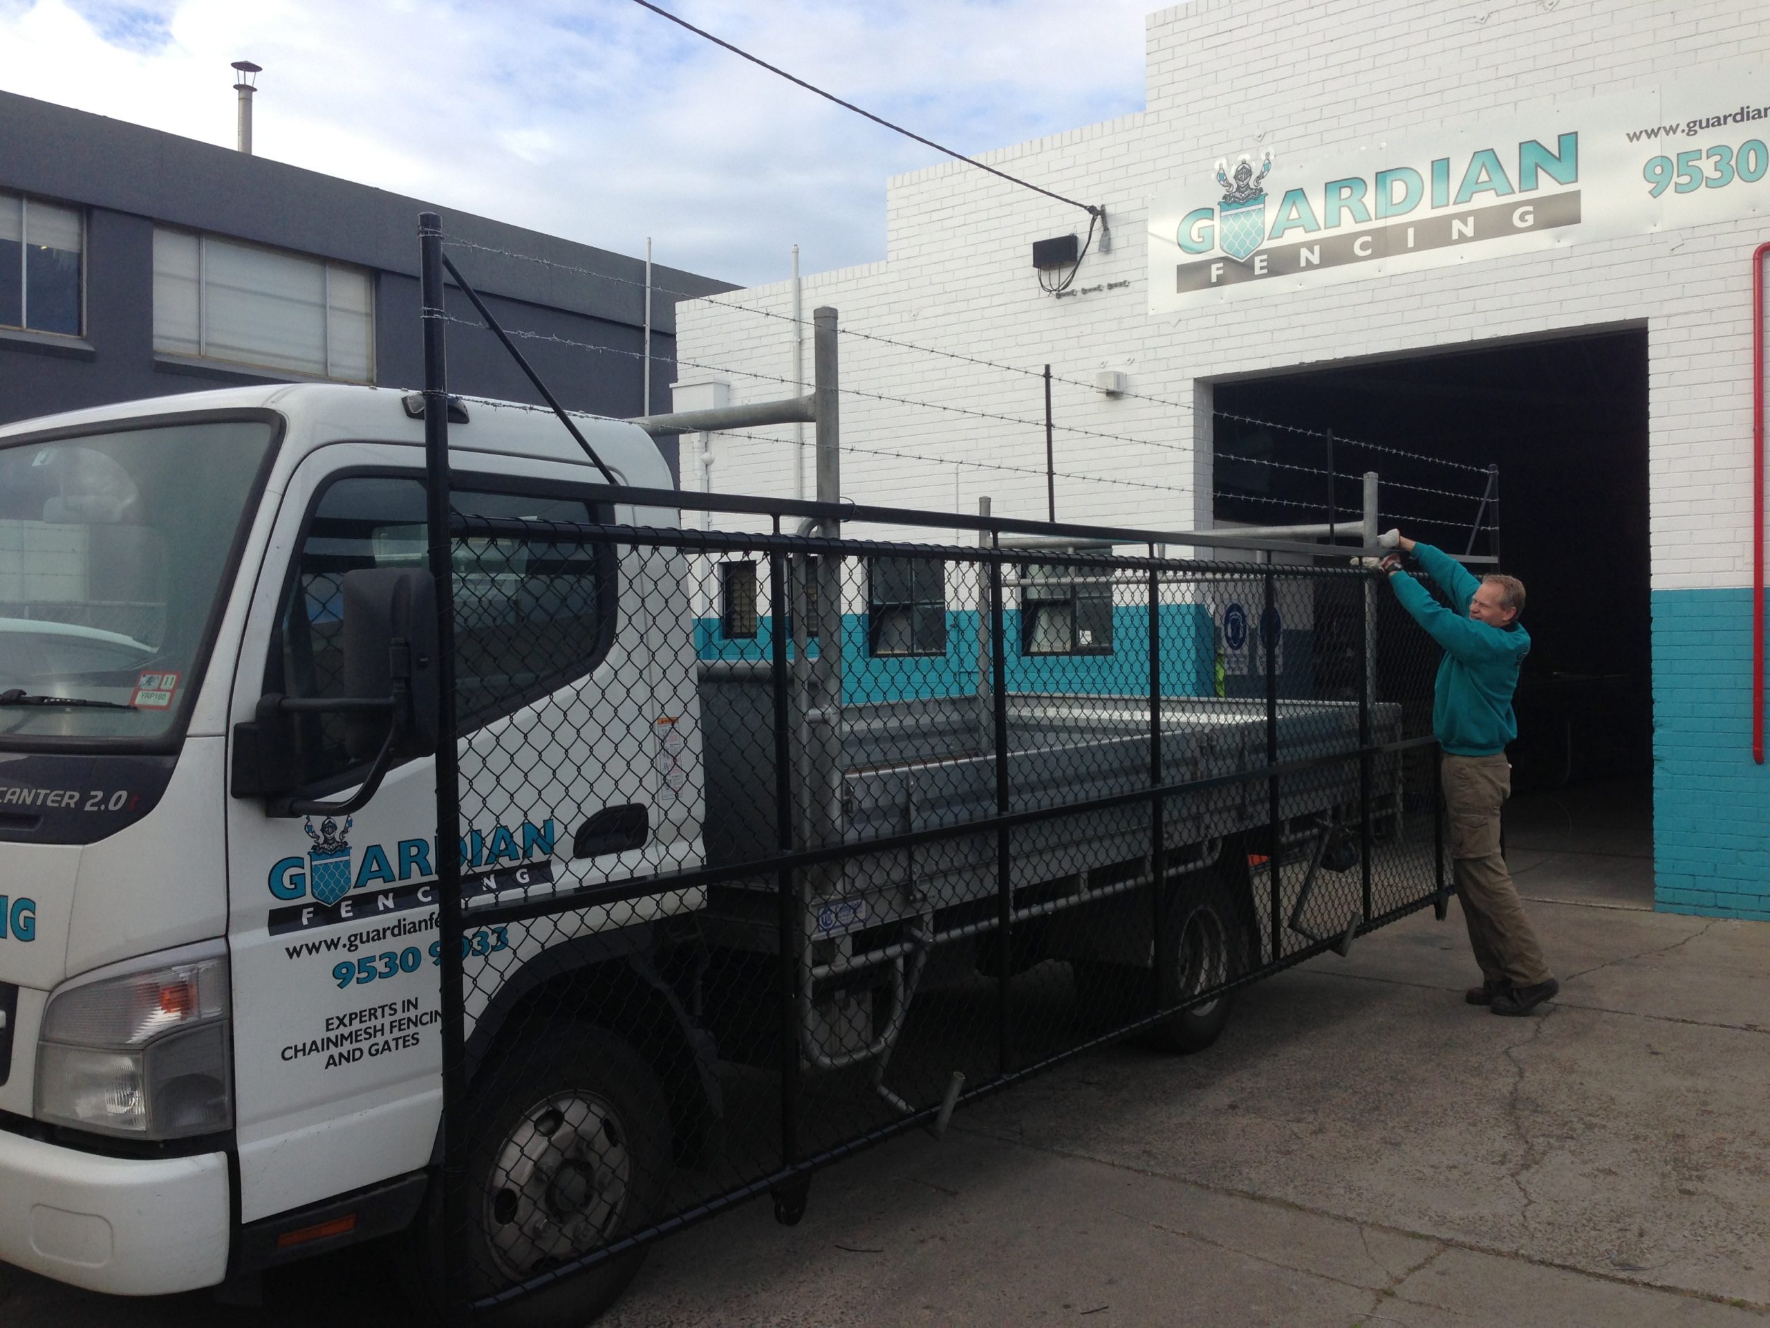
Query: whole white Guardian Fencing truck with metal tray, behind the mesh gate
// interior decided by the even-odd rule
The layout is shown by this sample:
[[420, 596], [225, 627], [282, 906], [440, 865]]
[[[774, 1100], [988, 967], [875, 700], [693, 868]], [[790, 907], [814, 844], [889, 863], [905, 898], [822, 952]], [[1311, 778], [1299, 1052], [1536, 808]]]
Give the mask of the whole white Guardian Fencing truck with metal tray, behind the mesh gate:
[[[469, 409], [451, 439], [457, 512], [494, 522], [678, 528], [676, 508], [609, 503], [604, 476], [556, 420], [515, 405]], [[437, 853], [457, 848], [435, 843], [434, 760], [396, 751], [389, 738], [375, 761], [384, 777], [365, 802], [354, 790], [381, 730], [313, 703], [338, 696], [340, 675], [373, 671], [365, 659], [377, 652], [386, 673], [388, 643], [375, 622], [423, 607], [365, 609], [370, 583], [352, 581], [365, 568], [391, 575], [425, 567], [421, 416], [423, 397], [412, 393], [285, 386], [0, 429], [0, 1261], [97, 1291], [156, 1294], [416, 1231], [407, 1248], [419, 1275], [427, 1268], [434, 1243], [421, 1238], [419, 1215], [435, 1211], [427, 1195], [442, 1107], [434, 880]], [[671, 487], [641, 429], [595, 418], [579, 427], [621, 485]], [[524, 575], [515, 565], [487, 570], [496, 556], [497, 542], [483, 542], [473, 575], [457, 586], [457, 645], [469, 660], [457, 698], [462, 749], [474, 735], [496, 738], [524, 724], [540, 735], [536, 715], [552, 719], [545, 742], [536, 740], [538, 760], [481, 760], [467, 776], [490, 781], [476, 800], [490, 811], [462, 825], [458, 845], [476, 898], [765, 855], [766, 791], [712, 749], [703, 761], [703, 742], [733, 742], [747, 708], [758, 708], [756, 675], [703, 666], [694, 614], [673, 598], [681, 583], [648, 579], [671, 563], [625, 560], [618, 581], [588, 554], [581, 567], [556, 567], [552, 584], [577, 577], [581, 593], [547, 614], [565, 660], [549, 676], [499, 653], [519, 648], [533, 625], [512, 623], [497, 606], [476, 618], [478, 593]], [[648, 609], [627, 611], [639, 604]], [[1165, 705], [1174, 768], [1253, 768], [1271, 758], [1257, 703], [1174, 705], [1174, 715]], [[1089, 722], [1122, 726], [1094, 730], [1101, 742], [1083, 761], [1090, 790], [1117, 786], [1120, 765], [1126, 779], [1145, 777], [1149, 749], [1135, 735], [1149, 730], [1147, 705], [1097, 699], [1050, 715], [1037, 698], [1016, 698], [1016, 706], [1028, 715], [1025, 731], [1046, 744], [1090, 714]], [[963, 715], [949, 712], [936, 706], [922, 722], [963, 735]], [[1395, 740], [1397, 706], [1375, 712], [1377, 740]], [[559, 724], [561, 714], [572, 722]], [[379, 712], [370, 719], [386, 728]], [[901, 733], [880, 738], [892, 722], [889, 706], [869, 706], [850, 730], [844, 800], [855, 827], [871, 818], [889, 832], [968, 815], [968, 800], [981, 813], [993, 806], [982, 756], [892, 758], [887, 749], [901, 751]], [[754, 735], [743, 740], [754, 745]], [[1358, 708], [1292, 705], [1278, 740], [1281, 756], [1354, 749]], [[1216, 767], [1200, 767], [1207, 747]], [[715, 779], [703, 777], [704, 765]], [[935, 765], [963, 776], [965, 797], [927, 806]], [[1377, 774], [1398, 829], [1398, 763], [1382, 761]], [[724, 793], [710, 800], [708, 783], [720, 781]], [[1032, 781], [1053, 807], [1073, 797], [1064, 783]], [[1356, 763], [1294, 781], [1283, 807], [1292, 834], [1280, 852], [1313, 853], [1312, 876], [1324, 853], [1343, 857], [1343, 811], [1358, 797]], [[1264, 800], [1243, 802], [1248, 825], [1264, 822]], [[1186, 919], [1175, 933], [1172, 995], [1184, 999], [1253, 967], [1235, 951], [1260, 944], [1260, 891], [1248, 891], [1244, 855], [1230, 861], [1223, 827], [1204, 825], [1197, 809], [1170, 815], [1166, 869], [1216, 869], [1221, 880], [1207, 899], [1223, 914], [1216, 933], [1188, 931]], [[1028, 864], [1041, 855], [1071, 862], [1041, 876], [1028, 917], [1089, 905], [1113, 923], [1104, 931], [1117, 928], [1117, 940], [1096, 924], [1074, 933], [1081, 951], [1046, 951], [1076, 961], [1078, 988], [1089, 972], [1097, 984], [1103, 965], [1149, 972], [1147, 923], [1138, 940], [1136, 921], [1112, 912], [1140, 884], [1147, 898], [1147, 878], [1136, 875], [1149, 866], [1136, 866], [1147, 823], [1145, 813], [1138, 832], [1120, 813], [1112, 834], [1126, 839], [1124, 862], [1094, 875], [1073, 866], [1051, 829], [1025, 832], [1028, 845], [1037, 841]], [[1336, 825], [1338, 843], [1329, 843]], [[901, 926], [889, 953], [873, 958], [841, 935], [858, 935], [858, 923], [807, 923], [820, 944], [807, 942], [804, 961], [848, 976], [830, 990], [807, 976], [800, 1046], [812, 1069], [820, 1046], [841, 1064], [889, 1059], [919, 976], [933, 981], [935, 947], [991, 942], [995, 914], [984, 917], [974, 903], [995, 889], [995, 869], [966, 861], [963, 873], [979, 889], [956, 887], [950, 914], [926, 894], [913, 907], [874, 898], [871, 921]], [[720, 1066], [738, 1055], [715, 1032], [742, 1043], [719, 1020], [743, 1002], [708, 997], [697, 983], [722, 970], [768, 988], [765, 965], [779, 947], [770, 954], [773, 933], [754, 924], [758, 907], [773, 914], [752, 885], [653, 892], [573, 912], [568, 924], [549, 917], [545, 930], [469, 933], [464, 961], [469, 979], [478, 974], [469, 1071], [513, 1080], [467, 1117], [485, 1135], [469, 1177], [480, 1186], [471, 1204], [483, 1241], [469, 1291], [496, 1291], [646, 1225], [666, 1211], [673, 1163], [708, 1169]], [[843, 889], [850, 901], [835, 908], [867, 919], [867, 903], [853, 903], [866, 887]], [[471, 910], [467, 917], [471, 928]], [[717, 949], [726, 961], [673, 967], [667, 946], [678, 954]], [[1037, 958], [1016, 956], [1016, 965]], [[520, 1066], [490, 1057], [496, 1020], [520, 1004], [499, 993], [563, 981], [568, 970], [595, 970], [596, 990], [627, 1027], [648, 1029], [644, 1045], [596, 1027], [591, 1013], [588, 1023], [550, 1027], [545, 1054]], [[883, 974], [880, 1009], [889, 1013], [832, 1052], [832, 1011], [853, 1000], [857, 972]], [[535, 1041], [533, 1008], [527, 1016], [524, 1036]], [[1195, 1009], [1174, 1032], [1186, 1045], [1220, 1025], [1220, 1008]], [[558, 1082], [542, 1082], [547, 1073]], [[588, 1082], [595, 1087], [572, 1087]], [[883, 1085], [881, 1096], [890, 1098]], [[618, 1156], [604, 1147], [591, 1158], [593, 1139], [620, 1139]], [[524, 1153], [522, 1176], [512, 1179], [510, 1158]], [[577, 1312], [618, 1294], [632, 1266], [604, 1266], [575, 1293]]]

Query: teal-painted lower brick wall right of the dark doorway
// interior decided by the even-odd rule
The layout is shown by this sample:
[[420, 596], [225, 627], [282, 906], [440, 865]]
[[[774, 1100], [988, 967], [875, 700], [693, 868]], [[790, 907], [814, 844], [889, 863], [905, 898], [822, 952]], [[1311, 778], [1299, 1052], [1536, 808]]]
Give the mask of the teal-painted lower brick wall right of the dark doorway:
[[1770, 921], [1751, 604], [1749, 588], [1653, 591], [1653, 903], [1664, 912]]

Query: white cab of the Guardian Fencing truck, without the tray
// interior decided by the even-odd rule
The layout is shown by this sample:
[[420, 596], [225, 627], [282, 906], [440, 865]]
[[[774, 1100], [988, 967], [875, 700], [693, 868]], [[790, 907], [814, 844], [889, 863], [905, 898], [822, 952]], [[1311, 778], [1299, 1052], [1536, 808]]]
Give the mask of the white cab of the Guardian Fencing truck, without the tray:
[[[460, 513], [678, 521], [586, 492], [602, 476], [549, 414], [451, 416]], [[579, 427], [623, 485], [671, 487], [639, 429]], [[489, 542], [457, 579], [462, 742], [582, 717], [582, 751], [497, 776], [524, 811], [458, 845], [430, 756], [343, 809], [375, 753], [361, 717], [267, 712], [347, 696], [352, 574], [425, 567], [423, 437], [421, 397], [317, 384], [0, 429], [0, 1259], [154, 1294], [407, 1225], [441, 1112], [439, 855], [481, 889], [699, 862], [692, 643], [620, 613], [646, 588], [612, 547], [543, 567]], [[614, 790], [625, 820], [596, 822]], [[559, 940], [595, 937], [667, 1006], [646, 938], [696, 903]], [[489, 963], [515, 944], [469, 940]]]

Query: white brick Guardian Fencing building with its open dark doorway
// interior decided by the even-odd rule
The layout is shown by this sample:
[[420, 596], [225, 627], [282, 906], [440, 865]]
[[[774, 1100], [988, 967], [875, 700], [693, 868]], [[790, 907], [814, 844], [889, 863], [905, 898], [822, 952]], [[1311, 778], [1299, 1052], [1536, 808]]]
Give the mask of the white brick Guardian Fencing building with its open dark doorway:
[[[844, 498], [1188, 529], [1356, 521], [1375, 471], [1531, 590], [1517, 786], [1639, 797], [1660, 908], [1770, 919], [1761, 5], [1197, 0], [1145, 110], [984, 159], [1078, 205], [894, 179], [883, 262], [681, 310], [678, 404], [782, 395], [800, 301], [864, 333]], [[809, 473], [685, 443], [685, 487]]]

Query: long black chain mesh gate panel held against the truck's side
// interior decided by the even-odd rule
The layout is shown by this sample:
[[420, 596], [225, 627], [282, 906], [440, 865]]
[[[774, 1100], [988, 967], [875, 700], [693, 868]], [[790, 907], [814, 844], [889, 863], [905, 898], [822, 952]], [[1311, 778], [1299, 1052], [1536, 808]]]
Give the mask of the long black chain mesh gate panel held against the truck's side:
[[1234, 986], [1443, 901], [1434, 652], [1370, 574], [451, 529], [480, 1307], [598, 1301], [763, 1192], [796, 1220], [820, 1165], [1108, 1039], [1200, 1046]]

